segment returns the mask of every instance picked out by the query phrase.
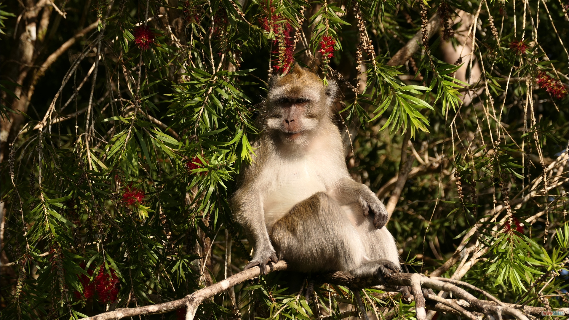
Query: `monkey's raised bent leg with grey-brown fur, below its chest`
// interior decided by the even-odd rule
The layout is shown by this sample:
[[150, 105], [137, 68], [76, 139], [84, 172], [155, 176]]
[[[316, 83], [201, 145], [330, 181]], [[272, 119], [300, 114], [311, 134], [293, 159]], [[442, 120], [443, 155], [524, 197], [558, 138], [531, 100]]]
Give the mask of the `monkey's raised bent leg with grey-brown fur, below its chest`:
[[300, 272], [349, 271], [365, 248], [344, 210], [324, 192], [297, 203], [270, 231], [279, 259]]

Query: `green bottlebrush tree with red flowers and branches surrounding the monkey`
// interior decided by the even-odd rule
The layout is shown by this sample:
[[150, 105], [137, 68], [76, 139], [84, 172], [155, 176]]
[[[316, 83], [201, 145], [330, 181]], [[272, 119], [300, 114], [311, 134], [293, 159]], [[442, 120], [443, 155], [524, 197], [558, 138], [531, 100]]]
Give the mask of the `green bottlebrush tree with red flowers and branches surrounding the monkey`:
[[[0, 7], [3, 319], [567, 307], [566, 0]], [[387, 286], [291, 284], [284, 262], [238, 273], [253, 247], [230, 212], [234, 180], [267, 79], [295, 64], [340, 85], [348, 168], [386, 204], [405, 271]]]

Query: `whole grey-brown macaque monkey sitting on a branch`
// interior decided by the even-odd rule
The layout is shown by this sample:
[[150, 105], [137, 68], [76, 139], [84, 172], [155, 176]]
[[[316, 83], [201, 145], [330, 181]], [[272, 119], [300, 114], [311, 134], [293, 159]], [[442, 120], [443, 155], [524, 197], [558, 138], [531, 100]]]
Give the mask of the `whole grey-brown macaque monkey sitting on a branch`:
[[332, 122], [336, 91], [335, 82], [325, 86], [299, 65], [270, 80], [253, 162], [232, 199], [254, 244], [245, 269], [264, 273], [267, 263], [283, 259], [305, 273], [382, 277], [401, 270], [384, 204], [348, 173]]

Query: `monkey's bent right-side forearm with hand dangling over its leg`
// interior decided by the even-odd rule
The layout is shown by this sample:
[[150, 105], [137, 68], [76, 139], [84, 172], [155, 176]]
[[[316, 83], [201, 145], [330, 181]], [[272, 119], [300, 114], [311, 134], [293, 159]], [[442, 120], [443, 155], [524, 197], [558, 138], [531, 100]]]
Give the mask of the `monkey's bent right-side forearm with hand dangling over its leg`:
[[368, 216], [371, 211], [376, 228], [381, 229], [387, 223], [387, 210], [381, 200], [368, 186], [355, 181], [352, 177], [340, 179], [333, 195], [341, 206], [360, 203], [364, 216]]

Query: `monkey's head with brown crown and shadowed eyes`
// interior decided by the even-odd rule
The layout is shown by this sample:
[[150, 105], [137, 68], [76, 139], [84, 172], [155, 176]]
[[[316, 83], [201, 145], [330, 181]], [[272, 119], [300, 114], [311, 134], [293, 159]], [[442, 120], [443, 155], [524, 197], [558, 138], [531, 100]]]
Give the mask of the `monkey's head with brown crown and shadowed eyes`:
[[262, 110], [262, 129], [288, 143], [302, 143], [330, 121], [337, 91], [335, 81], [325, 86], [318, 75], [295, 64], [285, 76], [273, 76]]

